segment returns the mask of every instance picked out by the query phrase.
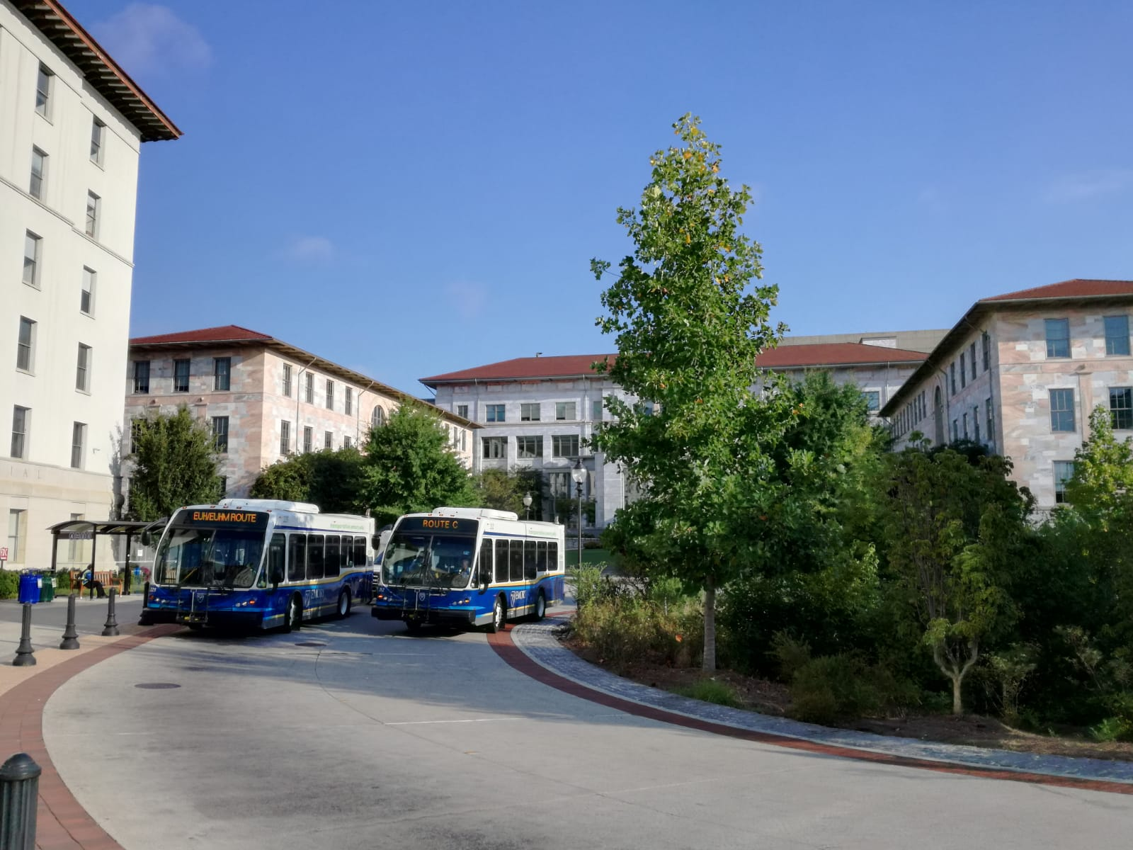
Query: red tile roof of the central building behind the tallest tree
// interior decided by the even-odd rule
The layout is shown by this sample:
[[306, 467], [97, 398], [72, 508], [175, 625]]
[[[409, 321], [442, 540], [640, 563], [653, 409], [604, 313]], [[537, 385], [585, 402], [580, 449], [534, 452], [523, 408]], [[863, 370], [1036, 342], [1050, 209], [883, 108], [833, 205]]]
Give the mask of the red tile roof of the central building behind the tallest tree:
[[[804, 368], [807, 366], [849, 366], [868, 363], [920, 363], [927, 355], [901, 348], [866, 346], [860, 342], [821, 342], [783, 346], [764, 351], [756, 360], [766, 368]], [[565, 355], [562, 357], [517, 357], [459, 372], [446, 372], [420, 379], [426, 386], [469, 381], [534, 381], [537, 379], [594, 375], [590, 365], [616, 355]]]

